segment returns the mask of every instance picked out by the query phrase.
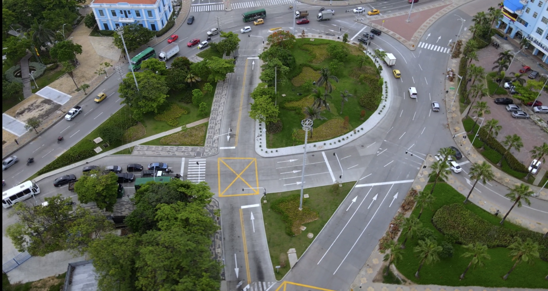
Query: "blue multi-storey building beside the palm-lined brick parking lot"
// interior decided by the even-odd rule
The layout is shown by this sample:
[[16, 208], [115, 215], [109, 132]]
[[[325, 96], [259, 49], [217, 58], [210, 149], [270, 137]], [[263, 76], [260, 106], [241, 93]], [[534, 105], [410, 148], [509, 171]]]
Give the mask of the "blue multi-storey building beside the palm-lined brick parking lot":
[[501, 9], [498, 27], [511, 38], [529, 39], [533, 55], [548, 63], [548, 0], [505, 0]]

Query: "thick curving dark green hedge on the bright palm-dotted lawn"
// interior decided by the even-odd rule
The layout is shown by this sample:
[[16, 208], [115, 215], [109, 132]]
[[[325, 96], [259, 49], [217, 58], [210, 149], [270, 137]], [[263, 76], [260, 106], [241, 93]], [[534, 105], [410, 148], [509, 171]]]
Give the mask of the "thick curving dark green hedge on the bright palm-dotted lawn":
[[462, 203], [442, 206], [432, 217], [432, 223], [446, 238], [453, 238], [455, 243], [462, 245], [481, 242], [489, 248], [507, 247], [515, 241], [515, 237], [523, 241], [531, 238], [540, 246], [540, 258], [548, 260], [548, 240], [540, 232], [516, 231], [493, 225], [466, 209]]

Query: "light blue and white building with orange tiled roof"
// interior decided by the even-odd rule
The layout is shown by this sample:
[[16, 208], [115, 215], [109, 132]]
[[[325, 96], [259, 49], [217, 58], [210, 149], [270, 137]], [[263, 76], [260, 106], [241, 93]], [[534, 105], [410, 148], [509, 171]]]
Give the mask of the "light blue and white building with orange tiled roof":
[[89, 6], [100, 30], [138, 24], [158, 31], [173, 13], [170, 0], [94, 0]]

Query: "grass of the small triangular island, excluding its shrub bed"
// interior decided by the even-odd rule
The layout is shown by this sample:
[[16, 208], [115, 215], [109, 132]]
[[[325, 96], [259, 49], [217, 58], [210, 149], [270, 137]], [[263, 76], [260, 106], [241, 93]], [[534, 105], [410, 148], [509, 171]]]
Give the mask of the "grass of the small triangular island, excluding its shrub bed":
[[[316, 237], [319, 231], [327, 223], [329, 218], [333, 215], [340, 203], [343, 202], [346, 195], [355, 182], [347, 182], [343, 184], [343, 187], [336, 185], [328, 185], [323, 187], [314, 187], [304, 190], [304, 194], [309, 194], [310, 198], [306, 198], [303, 201], [303, 205], [310, 207], [312, 210], [317, 211], [319, 219], [313, 222], [307, 223], [306, 230], [302, 231], [300, 235], [288, 236], [286, 234], [286, 223], [282, 221], [281, 214], [270, 209], [272, 202], [281, 197], [287, 197], [293, 194], [300, 194], [300, 190], [287, 191], [282, 193], [271, 193], [267, 195], [267, 203], [262, 203], [262, 215], [265, 220], [266, 239], [269, 243], [270, 258], [272, 260], [272, 268], [279, 266], [280, 257], [284, 255], [286, 258], [286, 266], [279, 268], [279, 272], [275, 271], [276, 280], [286, 275], [289, 271], [289, 260], [287, 259], [287, 251], [290, 248], [295, 248], [297, 257], [300, 258], [302, 253], [310, 246], [314, 238], [308, 238], [306, 235], [311, 232]], [[298, 210], [297, 210], [298, 211]]]

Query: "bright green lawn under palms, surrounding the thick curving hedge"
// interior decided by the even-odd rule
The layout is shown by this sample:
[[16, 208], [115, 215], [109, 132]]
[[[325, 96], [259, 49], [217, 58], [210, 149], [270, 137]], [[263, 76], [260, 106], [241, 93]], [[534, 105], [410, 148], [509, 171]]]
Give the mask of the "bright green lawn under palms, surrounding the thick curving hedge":
[[[430, 191], [432, 184], [424, 189]], [[432, 203], [432, 209], [424, 208], [420, 221], [424, 228], [429, 228], [434, 232], [438, 245], [444, 241], [444, 235], [439, 232], [432, 224], [431, 220], [436, 210], [443, 205], [452, 203], [462, 203], [464, 196], [445, 183], [438, 183], [434, 191], [436, 200]], [[482, 208], [467, 203], [465, 207], [475, 213], [482, 219], [493, 225], [499, 225], [501, 217], [495, 217], [493, 214], [484, 211]], [[507, 209], [501, 209], [504, 215]], [[413, 214], [418, 216], [420, 208], [413, 210]], [[523, 230], [521, 226], [505, 222], [503, 228], [509, 230]], [[399, 242], [403, 242], [404, 237], [399, 237]], [[541, 259], [534, 259], [534, 265], [522, 263], [510, 273], [506, 281], [502, 277], [510, 270], [515, 263], [509, 257], [509, 249], [505, 247], [490, 248], [488, 254], [490, 260], [485, 262], [484, 266], [476, 266], [466, 273], [464, 280], [459, 280], [459, 276], [470, 263], [471, 258], [464, 258], [461, 255], [467, 250], [461, 245], [453, 244], [455, 249], [452, 258], [441, 259], [432, 265], [424, 265], [420, 271], [420, 278], [415, 278], [415, 272], [419, 267], [419, 259], [415, 256], [413, 248], [417, 245], [415, 238], [410, 238], [406, 243], [406, 249], [403, 251], [403, 260], [396, 265], [399, 272], [416, 284], [437, 284], [443, 286], [483, 286], [483, 287], [509, 287], [509, 288], [546, 288], [544, 276], [548, 273], [548, 262]], [[544, 286], [544, 287], [543, 287]]]

